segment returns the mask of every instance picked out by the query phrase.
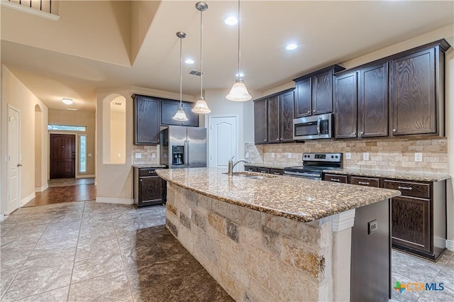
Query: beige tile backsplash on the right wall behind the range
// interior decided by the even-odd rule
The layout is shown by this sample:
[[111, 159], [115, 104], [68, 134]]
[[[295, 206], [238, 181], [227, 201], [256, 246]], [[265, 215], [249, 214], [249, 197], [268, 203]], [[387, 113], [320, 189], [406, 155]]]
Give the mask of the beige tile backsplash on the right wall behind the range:
[[[303, 152], [342, 152], [344, 168], [448, 174], [447, 138], [401, 140], [311, 140], [304, 143], [254, 145], [245, 142], [252, 162], [301, 164]], [[347, 160], [345, 153], [350, 152]], [[363, 152], [369, 160], [363, 160]], [[415, 162], [422, 153], [422, 162]]]

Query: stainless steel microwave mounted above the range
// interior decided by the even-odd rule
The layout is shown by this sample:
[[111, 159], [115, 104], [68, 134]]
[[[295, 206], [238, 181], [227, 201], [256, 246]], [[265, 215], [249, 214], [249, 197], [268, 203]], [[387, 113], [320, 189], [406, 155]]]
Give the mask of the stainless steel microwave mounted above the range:
[[293, 139], [316, 140], [318, 138], [331, 138], [332, 129], [332, 113], [295, 118], [293, 120]]

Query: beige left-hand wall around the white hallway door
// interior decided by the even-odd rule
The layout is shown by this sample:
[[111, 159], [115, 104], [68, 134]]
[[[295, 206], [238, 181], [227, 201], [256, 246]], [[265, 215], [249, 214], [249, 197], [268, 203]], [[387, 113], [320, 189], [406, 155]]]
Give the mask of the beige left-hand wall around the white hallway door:
[[[4, 65], [1, 65], [1, 203], [0, 213], [7, 206], [7, 162], [8, 154], [8, 105], [21, 111], [21, 203], [35, 194], [35, 105], [42, 111], [41, 126], [45, 133], [48, 122], [48, 107], [45, 106], [18, 78]], [[42, 145], [42, 152], [48, 153], [48, 145]], [[42, 158], [42, 175], [48, 174], [47, 158]], [[43, 177], [47, 181], [46, 177]]]

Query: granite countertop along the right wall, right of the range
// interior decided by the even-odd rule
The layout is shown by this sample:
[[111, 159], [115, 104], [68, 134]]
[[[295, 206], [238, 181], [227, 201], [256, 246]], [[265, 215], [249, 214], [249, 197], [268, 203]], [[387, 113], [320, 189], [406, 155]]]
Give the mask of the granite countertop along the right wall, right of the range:
[[332, 169], [323, 170], [329, 174], [346, 174], [362, 177], [381, 177], [390, 179], [414, 180], [414, 181], [442, 181], [450, 179], [448, 174], [437, 173], [418, 173], [418, 172], [399, 172], [399, 171], [379, 171], [370, 169]]

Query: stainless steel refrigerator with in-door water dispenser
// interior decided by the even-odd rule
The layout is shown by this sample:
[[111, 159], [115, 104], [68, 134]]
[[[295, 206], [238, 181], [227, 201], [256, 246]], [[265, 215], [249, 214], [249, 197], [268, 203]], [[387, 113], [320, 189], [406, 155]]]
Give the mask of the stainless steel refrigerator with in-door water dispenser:
[[206, 167], [206, 128], [171, 125], [160, 136], [161, 164], [170, 169]]

